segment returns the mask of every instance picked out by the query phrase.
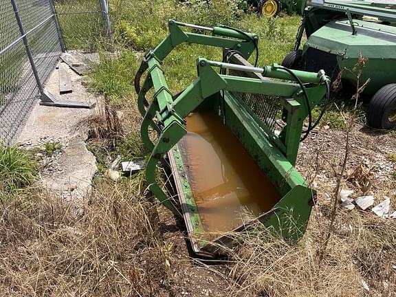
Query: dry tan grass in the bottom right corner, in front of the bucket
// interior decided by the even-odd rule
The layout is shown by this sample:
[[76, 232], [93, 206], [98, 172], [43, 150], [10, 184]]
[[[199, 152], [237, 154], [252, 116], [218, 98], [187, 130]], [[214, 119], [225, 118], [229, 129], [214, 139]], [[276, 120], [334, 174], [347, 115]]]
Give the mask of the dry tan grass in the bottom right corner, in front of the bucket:
[[396, 296], [395, 220], [339, 210], [320, 261], [332, 208], [324, 192], [321, 196], [296, 245], [267, 230], [234, 234], [243, 244], [226, 250], [230, 290], [224, 296]]

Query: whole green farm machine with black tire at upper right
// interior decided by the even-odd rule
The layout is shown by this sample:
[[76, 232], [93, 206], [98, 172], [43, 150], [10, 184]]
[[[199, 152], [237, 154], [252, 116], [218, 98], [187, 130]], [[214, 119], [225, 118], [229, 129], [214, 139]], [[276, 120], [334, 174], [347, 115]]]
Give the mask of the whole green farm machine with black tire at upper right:
[[[307, 41], [300, 49], [303, 34]], [[396, 1], [311, 0], [297, 33], [296, 45], [282, 65], [316, 72], [325, 69], [332, 80], [342, 71], [344, 83], [356, 87], [353, 68], [368, 59], [360, 85], [370, 99], [366, 118], [377, 129], [396, 126]], [[338, 90], [337, 90], [338, 91]]]

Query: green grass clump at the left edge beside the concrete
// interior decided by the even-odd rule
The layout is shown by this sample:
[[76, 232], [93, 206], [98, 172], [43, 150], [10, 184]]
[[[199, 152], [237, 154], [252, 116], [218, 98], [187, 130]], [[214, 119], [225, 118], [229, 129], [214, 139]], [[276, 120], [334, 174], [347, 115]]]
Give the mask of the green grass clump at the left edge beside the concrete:
[[10, 192], [32, 184], [38, 166], [31, 155], [17, 146], [0, 144], [0, 187]]

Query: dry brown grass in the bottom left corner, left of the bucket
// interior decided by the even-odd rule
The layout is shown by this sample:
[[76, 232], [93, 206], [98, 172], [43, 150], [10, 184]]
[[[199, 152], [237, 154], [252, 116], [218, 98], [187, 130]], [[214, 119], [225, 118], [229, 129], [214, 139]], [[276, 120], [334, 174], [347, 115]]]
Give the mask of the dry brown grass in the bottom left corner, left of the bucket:
[[104, 181], [78, 208], [43, 192], [3, 204], [0, 295], [157, 296], [168, 260], [143, 189]]

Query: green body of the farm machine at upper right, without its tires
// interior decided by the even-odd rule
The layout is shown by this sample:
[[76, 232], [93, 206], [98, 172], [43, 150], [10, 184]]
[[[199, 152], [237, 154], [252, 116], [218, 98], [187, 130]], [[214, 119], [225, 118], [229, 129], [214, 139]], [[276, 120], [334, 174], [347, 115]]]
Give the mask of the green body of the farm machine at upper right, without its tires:
[[[366, 94], [373, 95], [384, 85], [396, 82], [395, 23], [380, 22], [396, 22], [396, 3], [324, 0], [307, 1], [307, 5], [302, 23], [303, 30], [298, 32], [294, 49], [298, 50], [300, 47], [305, 30], [308, 38], [303, 47], [303, 69], [313, 71], [318, 67], [335, 69], [336, 66], [339, 69], [353, 69], [362, 54], [364, 58], [369, 58], [369, 61], [364, 67], [360, 81], [371, 78], [371, 82], [364, 89]], [[380, 21], [366, 21], [364, 16], [376, 17]], [[318, 50], [322, 54], [310, 55], [309, 50]], [[326, 57], [329, 59], [327, 54], [335, 56], [333, 63], [336, 65], [328, 65], [323, 61]], [[343, 74], [352, 85], [356, 84], [354, 74]]]

